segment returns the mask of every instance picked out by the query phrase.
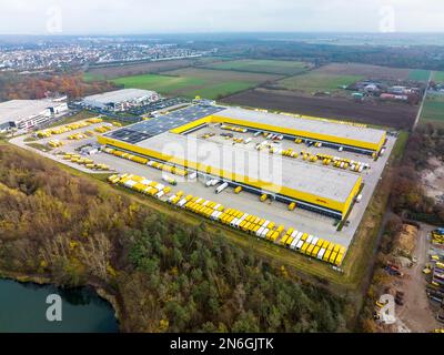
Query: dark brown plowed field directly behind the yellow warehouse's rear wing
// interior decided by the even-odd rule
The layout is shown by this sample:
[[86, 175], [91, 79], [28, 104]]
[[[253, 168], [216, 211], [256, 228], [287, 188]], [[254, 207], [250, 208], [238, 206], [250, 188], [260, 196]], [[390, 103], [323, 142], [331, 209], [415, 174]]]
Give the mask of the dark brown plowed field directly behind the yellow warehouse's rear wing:
[[248, 90], [222, 100], [229, 104], [411, 129], [418, 106], [406, 103], [355, 102], [346, 98], [307, 98], [289, 91]]

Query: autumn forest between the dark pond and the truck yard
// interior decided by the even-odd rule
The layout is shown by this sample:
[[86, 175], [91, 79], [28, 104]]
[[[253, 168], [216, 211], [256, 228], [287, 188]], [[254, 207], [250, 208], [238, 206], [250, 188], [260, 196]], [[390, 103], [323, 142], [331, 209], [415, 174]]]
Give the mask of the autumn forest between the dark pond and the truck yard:
[[0, 142], [0, 273], [107, 285], [123, 332], [340, 332], [344, 300], [283, 265]]

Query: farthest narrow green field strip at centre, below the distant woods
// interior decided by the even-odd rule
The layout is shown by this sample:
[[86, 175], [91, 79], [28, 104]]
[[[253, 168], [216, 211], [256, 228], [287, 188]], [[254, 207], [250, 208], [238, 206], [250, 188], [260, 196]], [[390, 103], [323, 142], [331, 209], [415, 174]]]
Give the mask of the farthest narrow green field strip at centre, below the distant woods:
[[205, 68], [220, 70], [238, 70], [256, 73], [271, 73], [282, 75], [295, 75], [310, 68], [310, 64], [286, 60], [255, 60], [240, 59], [209, 64]]

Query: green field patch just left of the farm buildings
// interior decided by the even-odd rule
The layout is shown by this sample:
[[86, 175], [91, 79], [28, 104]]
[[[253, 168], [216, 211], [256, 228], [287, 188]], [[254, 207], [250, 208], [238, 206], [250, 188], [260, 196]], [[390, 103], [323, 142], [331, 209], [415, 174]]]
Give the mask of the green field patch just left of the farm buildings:
[[364, 79], [362, 75], [335, 75], [312, 71], [306, 74], [280, 80], [278, 84], [286, 90], [304, 91], [307, 93], [316, 91], [332, 92], [362, 79]]

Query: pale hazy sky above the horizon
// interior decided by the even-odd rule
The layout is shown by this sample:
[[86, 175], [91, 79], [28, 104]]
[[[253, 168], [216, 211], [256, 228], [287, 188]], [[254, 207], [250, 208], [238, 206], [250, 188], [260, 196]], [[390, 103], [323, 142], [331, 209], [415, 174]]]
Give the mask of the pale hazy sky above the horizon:
[[443, 0], [0, 0], [0, 33], [443, 32]]

